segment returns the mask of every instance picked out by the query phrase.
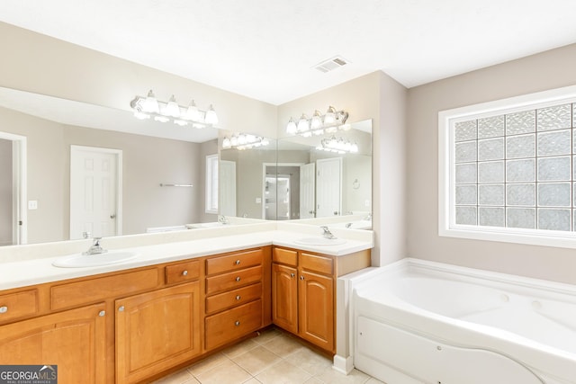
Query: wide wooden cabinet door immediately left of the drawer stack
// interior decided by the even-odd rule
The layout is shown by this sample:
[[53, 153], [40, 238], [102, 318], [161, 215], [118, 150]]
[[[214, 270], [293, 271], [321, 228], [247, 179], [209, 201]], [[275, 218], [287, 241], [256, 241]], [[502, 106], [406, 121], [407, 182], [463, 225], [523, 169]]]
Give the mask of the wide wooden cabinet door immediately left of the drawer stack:
[[144, 380], [201, 353], [198, 281], [116, 300], [116, 382]]

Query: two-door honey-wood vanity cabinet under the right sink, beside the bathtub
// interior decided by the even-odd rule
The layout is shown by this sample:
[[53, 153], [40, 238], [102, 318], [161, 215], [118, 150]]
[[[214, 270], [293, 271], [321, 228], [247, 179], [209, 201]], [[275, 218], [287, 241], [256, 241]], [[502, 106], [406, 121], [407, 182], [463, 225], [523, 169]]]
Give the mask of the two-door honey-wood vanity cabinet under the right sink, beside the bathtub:
[[322, 255], [275, 246], [272, 321], [328, 353], [336, 352], [336, 279], [370, 265], [370, 251]]

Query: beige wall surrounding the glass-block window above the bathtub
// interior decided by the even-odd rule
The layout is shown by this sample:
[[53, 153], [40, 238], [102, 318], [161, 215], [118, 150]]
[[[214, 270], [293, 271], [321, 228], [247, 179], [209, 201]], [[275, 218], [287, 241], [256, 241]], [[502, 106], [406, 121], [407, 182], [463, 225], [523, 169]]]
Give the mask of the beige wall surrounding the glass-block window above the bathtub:
[[576, 283], [576, 253], [573, 249], [438, 237], [437, 214], [438, 112], [574, 85], [574, 67], [576, 45], [571, 45], [410, 89], [408, 255]]

